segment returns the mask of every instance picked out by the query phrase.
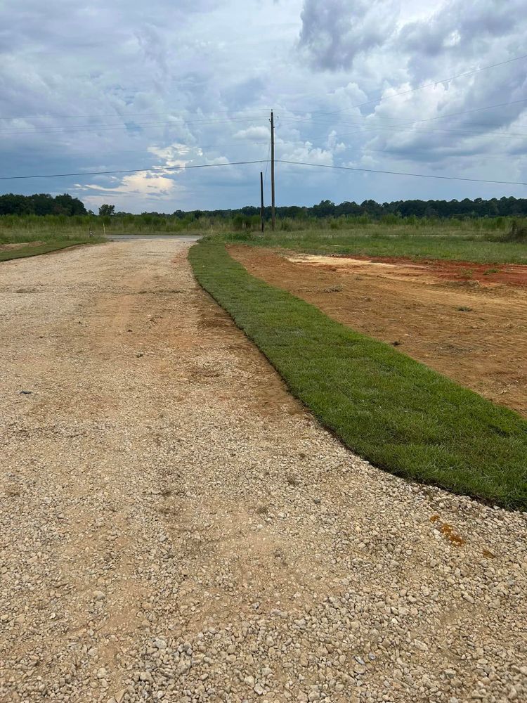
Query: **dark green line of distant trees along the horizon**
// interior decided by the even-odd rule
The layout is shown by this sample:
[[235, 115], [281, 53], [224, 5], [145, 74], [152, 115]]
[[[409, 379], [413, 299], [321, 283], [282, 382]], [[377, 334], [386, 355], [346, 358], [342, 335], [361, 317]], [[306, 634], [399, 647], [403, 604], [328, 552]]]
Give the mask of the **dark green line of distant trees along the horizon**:
[[[71, 195], [49, 195], [35, 193], [34, 195], [15, 195], [7, 193], [0, 195], [0, 215], [85, 215], [93, 214], [86, 210], [79, 198]], [[129, 213], [115, 212], [114, 205], [101, 205], [99, 215], [103, 217], [123, 216]], [[172, 213], [143, 212], [143, 215], [154, 217], [174, 217], [176, 219], [200, 219], [201, 217], [231, 219], [235, 217], [259, 216], [260, 209], [247, 205], [238, 209], [190, 210], [181, 209]], [[288, 205], [276, 208], [277, 217], [288, 219], [327, 219], [337, 217], [367, 216], [370, 219], [380, 219], [386, 215], [393, 217], [432, 217], [446, 219], [449, 217], [526, 217], [527, 198], [475, 198], [470, 200], [394, 200], [379, 203], [375, 200], [357, 202], [345, 201], [336, 205], [331, 200], [322, 200], [318, 205], [301, 207]], [[271, 207], [264, 208], [264, 216], [271, 219]], [[133, 217], [133, 216], [131, 216]]]

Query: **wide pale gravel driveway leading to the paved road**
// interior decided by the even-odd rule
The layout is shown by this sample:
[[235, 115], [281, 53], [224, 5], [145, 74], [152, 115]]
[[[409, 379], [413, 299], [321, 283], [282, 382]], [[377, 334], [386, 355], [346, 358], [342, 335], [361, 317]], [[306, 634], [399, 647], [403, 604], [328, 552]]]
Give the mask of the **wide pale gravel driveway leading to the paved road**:
[[0, 701], [527, 700], [526, 515], [346, 451], [187, 250], [0, 264]]

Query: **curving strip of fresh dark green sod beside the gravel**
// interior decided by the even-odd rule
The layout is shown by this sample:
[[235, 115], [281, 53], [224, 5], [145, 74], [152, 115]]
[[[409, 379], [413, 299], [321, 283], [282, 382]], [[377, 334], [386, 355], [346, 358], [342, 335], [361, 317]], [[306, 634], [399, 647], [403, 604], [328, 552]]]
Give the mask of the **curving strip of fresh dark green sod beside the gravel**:
[[195, 276], [344, 444], [393, 474], [527, 510], [527, 422], [250, 276], [222, 243]]

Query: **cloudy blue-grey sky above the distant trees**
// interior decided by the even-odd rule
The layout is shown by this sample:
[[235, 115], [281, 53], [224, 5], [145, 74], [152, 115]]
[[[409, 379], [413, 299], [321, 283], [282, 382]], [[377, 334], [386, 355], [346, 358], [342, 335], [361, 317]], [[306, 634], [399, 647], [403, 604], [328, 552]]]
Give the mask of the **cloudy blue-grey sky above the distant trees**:
[[263, 171], [268, 203], [229, 164], [268, 161], [273, 109], [277, 160], [367, 169], [278, 162], [277, 205], [524, 198], [368, 169], [526, 182], [526, 34], [527, 0], [0, 0], [0, 176], [82, 174], [0, 193], [223, 209]]

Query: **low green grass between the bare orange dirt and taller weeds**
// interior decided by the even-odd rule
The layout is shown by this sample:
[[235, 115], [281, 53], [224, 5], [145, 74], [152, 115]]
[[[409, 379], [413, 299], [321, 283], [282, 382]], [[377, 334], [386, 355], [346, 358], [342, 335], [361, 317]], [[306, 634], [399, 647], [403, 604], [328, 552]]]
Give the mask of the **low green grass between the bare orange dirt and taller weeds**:
[[502, 242], [495, 234], [489, 236], [451, 230], [448, 224], [421, 231], [375, 224], [342, 231], [267, 231], [263, 236], [238, 233], [223, 236], [223, 239], [259, 247], [285, 247], [307, 254], [364, 254], [481, 264], [527, 264], [527, 244]]

